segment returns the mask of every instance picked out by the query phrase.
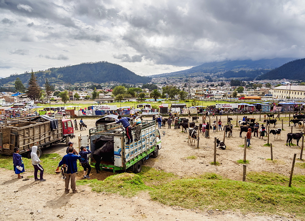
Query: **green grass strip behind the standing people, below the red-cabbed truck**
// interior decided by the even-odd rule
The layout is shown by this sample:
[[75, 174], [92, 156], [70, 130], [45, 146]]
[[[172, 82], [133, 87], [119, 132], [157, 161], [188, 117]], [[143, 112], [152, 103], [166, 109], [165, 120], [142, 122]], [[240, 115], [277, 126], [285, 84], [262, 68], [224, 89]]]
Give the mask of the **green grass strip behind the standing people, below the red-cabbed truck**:
[[[52, 159], [53, 157], [56, 157], [56, 159]], [[61, 159], [62, 157], [58, 153], [42, 154], [40, 157], [40, 164], [44, 169], [44, 173], [54, 174], [54, 171], [56, 170], [57, 165]], [[34, 171], [31, 159], [28, 159], [23, 156], [22, 161], [24, 163], [25, 171]], [[13, 170], [13, 156], [0, 155], [0, 167], [8, 170]], [[79, 164], [77, 163], [77, 167], [81, 166], [79, 166]]]

